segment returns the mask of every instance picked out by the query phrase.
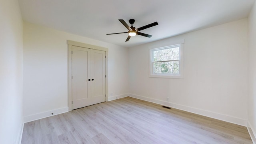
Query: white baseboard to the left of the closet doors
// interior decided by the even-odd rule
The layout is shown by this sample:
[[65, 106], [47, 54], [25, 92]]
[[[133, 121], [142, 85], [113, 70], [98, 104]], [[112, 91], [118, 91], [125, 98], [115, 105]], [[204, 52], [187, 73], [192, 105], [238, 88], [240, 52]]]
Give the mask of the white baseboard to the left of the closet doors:
[[65, 113], [65, 112], [68, 112], [68, 107], [59, 108], [59, 109], [55, 109], [55, 110], [49, 110], [49, 111], [46, 111], [46, 112], [41, 112], [41, 113], [38, 113], [38, 114], [32, 114], [32, 115], [29, 115], [29, 116], [24, 116], [24, 123], [31, 122], [31, 121], [34, 121], [34, 120], [39, 120], [41, 118], [47, 118], [49, 116], [54, 116], [54, 115], [57, 115], [57, 114], [62, 114], [62, 113]]

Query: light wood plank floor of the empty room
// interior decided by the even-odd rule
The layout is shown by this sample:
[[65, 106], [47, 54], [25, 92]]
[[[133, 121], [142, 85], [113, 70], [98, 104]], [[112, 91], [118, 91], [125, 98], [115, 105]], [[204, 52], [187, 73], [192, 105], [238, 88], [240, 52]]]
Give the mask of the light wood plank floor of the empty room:
[[22, 144], [252, 144], [246, 127], [126, 97], [24, 124]]

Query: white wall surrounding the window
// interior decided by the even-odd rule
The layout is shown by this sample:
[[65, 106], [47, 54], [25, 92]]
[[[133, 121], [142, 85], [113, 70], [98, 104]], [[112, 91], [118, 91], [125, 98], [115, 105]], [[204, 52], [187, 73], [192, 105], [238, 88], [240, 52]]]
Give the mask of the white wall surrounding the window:
[[[242, 19], [129, 48], [130, 96], [245, 126], [247, 28]], [[181, 39], [184, 79], [149, 78], [148, 49]]]

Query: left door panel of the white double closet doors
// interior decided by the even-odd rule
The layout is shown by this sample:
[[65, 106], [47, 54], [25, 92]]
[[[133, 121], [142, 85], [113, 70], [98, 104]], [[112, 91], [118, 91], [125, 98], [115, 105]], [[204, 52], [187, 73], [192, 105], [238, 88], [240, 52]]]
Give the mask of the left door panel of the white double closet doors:
[[89, 106], [92, 103], [91, 50], [72, 46], [72, 110]]

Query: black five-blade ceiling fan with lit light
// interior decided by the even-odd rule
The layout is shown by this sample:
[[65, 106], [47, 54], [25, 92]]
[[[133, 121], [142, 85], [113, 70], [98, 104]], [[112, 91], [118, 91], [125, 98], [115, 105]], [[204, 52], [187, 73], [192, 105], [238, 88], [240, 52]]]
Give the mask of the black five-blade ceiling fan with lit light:
[[[142, 32], [139, 32], [140, 30], [144, 30], [146, 28], [150, 28], [152, 26], [156, 26], [158, 25], [157, 22], [153, 22], [152, 24], [148, 24], [146, 26], [142, 26], [140, 28], [135, 28], [133, 26], [128, 26], [128, 24], [126, 24], [126, 22], [124, 20], [119, 20], [129, 31], [128, 32], [118, 32], [118, 33], [113, 33], [113, 34], [124, 34], [124, 33], [128, 33], [128, 38], [126, 39], [126, 42], [131, 38], [131, 36], [136, 36], [136, 35], [141, 35], [141, 36], [146, 36], [148, 38], [151, 38], [152, 35], [149, 34], [144, 34]], [[130, 24], [134, 24], [135, 20], [134, 19], [130, 19], [129, 23]], [[110, 35], [110, 34], [107, 34]]]

